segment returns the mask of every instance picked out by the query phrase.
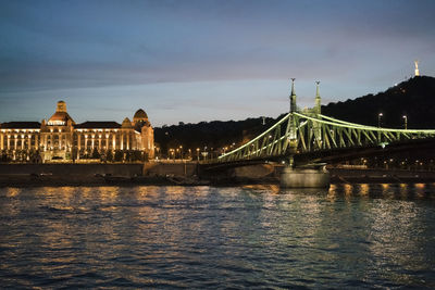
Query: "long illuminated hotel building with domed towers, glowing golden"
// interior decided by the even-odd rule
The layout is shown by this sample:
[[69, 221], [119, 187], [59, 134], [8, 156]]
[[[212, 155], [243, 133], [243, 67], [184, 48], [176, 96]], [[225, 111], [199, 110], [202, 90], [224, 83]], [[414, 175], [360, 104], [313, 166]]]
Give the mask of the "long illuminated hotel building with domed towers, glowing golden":
[[133, 122], [76, 124], [59, 101], [48, 121], [0, 124], [0, 150], [3, 162], [145, 161], [154, 157], [154, 133], [141, 109]]

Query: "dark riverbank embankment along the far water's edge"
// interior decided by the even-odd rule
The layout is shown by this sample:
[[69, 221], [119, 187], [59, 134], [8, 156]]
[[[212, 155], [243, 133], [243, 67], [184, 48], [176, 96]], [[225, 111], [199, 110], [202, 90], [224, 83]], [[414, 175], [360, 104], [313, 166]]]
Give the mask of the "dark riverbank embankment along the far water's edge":
[[[201, 175], [198, 164], [0, 164], [0, 187], [278, 185], [283, 165], [261, 164]], [[435, 172], [328, 168], [332, 184], [435, 182]]]

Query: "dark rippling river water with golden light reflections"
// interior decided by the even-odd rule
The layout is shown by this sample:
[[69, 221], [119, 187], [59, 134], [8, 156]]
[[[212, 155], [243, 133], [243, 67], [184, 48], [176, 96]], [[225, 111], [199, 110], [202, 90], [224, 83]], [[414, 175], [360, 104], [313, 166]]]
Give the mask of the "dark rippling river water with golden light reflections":
[[0, 288], [433, 288], [435, 185], [0, 189]]

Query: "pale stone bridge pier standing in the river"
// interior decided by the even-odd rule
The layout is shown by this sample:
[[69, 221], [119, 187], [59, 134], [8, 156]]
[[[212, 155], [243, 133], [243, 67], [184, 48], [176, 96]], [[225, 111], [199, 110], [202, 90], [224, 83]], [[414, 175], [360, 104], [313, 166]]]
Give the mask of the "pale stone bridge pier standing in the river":
[[312, 167], [286, 166], [281, 174], [282, 188], [328, 188], [330, 173], [325, 165]]

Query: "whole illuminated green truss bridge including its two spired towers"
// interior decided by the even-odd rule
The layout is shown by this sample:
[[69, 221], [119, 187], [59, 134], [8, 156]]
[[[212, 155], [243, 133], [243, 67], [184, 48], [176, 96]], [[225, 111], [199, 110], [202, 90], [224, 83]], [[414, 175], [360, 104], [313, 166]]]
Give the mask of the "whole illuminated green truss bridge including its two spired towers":
[[[321, 114], [316, 83], [315, 105], [300, 111], [291, 84], [290, 112], [275, 125], [239, 148], [209, 162], [210, 165], [249, 164], [264, 161], [299, 161], [299, 165], [327, 162], [331, 156], [358, 156], [368, 150], [407, 147], [432, 142], [435, 129], [394, 129], [365, 126]], [[432, 144], [433, 146], [433, 144]]]

